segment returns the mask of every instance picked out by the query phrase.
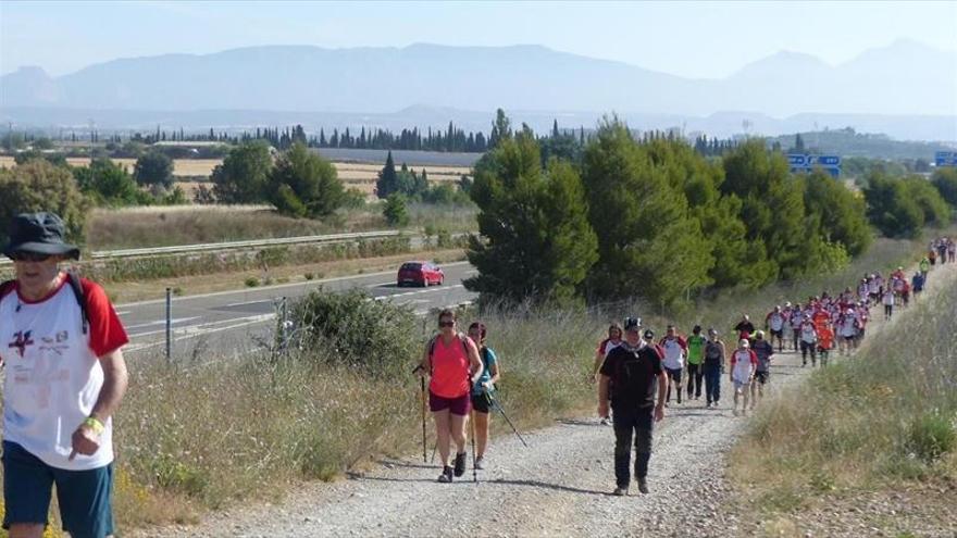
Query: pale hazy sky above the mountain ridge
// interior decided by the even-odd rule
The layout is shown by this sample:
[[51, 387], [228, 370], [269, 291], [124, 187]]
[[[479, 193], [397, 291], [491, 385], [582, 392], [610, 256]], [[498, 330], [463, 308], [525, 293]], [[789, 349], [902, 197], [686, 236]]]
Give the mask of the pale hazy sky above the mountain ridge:
[[957, 53], [948, 2], [26, 2], [0, 0], [0, 73], [254, 45], [537, 43], [688, 77], [779, 50], [831, 64], [909, 38]]

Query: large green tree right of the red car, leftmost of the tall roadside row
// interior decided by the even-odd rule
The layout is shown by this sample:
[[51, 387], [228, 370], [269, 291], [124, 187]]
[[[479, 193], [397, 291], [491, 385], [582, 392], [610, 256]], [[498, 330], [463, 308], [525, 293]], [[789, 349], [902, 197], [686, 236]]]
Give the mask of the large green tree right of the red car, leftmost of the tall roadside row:
[[575, 301], [598, 253], [574, 168], [552, 161], [543, 170], [533, 137], [505, 138], [476, 165], [471, 195], [481, 236], [468, 257], [478, 275], [465, 287], [483, 301]]

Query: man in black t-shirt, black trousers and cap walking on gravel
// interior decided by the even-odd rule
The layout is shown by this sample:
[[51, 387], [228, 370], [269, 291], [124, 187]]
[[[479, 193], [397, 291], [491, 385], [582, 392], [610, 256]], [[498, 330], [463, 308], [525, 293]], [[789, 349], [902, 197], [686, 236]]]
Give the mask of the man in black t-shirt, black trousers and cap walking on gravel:
[[[632, 438], [635, 447], [635, 478], [638, 491], [648, 492], [648, 462], [651, 459], [651, 431], [664, 418], [664, 393], [668, 378], [661, 359], [641, 338], [641, 322], [624, 322], [625, 341], [605, 358], [598, 380], [598, 414], [608, 414], [608, 388], [611, 381], [611, 408], [614, 411], [616, 496], [627, 495], [631, 484]], [[656, 389], [657, 387], [657, 389]]]

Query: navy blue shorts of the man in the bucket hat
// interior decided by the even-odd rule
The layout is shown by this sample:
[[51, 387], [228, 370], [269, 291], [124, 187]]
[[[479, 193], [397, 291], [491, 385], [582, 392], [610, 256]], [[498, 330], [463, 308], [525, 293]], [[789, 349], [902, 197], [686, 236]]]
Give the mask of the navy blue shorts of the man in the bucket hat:
[[16, 523], [49, 525], [53, 484], [63, 530], [73, 538], [113, 534], [112, 463], [90, 471], [65, 471], [8, 441], [3, 441], [3, 528]]

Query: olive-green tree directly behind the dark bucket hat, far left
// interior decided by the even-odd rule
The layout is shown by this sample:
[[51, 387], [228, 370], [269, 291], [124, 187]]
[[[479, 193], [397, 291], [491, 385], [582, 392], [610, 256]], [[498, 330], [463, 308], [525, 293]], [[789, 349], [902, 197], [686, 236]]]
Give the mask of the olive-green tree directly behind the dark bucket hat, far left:
[[89, 201], [69, 170], [34, 160], [0, 170], [0, 243], [7, 243], [8, 225], [20, 213], [49, 211], [66, 224], [66, 239], [83, 245]]

